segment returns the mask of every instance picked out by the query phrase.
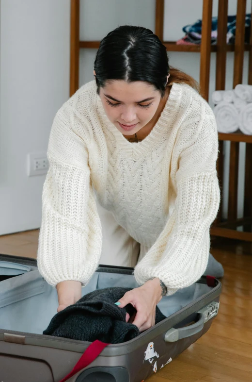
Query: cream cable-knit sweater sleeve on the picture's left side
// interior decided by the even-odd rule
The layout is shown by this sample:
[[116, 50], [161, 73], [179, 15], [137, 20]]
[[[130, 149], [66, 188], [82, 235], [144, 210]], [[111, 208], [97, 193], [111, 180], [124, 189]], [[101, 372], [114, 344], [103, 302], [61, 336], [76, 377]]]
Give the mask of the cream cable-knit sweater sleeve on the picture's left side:
[[63, 105], [54, 118], [47, 151], [37, 258], [41, 275], [54, 287], [66, 280], [85, 286], [97, 269], [102, 247], [83, 124], [77, 125], [77, 116]]

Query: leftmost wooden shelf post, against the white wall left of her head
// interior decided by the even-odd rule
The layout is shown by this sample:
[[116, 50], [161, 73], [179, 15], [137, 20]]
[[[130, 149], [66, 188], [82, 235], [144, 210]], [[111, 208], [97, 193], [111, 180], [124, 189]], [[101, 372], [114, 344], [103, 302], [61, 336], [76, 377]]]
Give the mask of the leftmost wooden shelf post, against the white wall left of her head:
[[71, 0], [70, 97], [79, 88], [79, 0]]

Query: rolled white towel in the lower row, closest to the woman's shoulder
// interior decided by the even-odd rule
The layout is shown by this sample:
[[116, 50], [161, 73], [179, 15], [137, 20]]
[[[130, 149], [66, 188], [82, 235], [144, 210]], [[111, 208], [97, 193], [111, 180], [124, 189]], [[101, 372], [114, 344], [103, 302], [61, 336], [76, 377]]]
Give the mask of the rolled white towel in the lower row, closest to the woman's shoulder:
[[239, 129], [239, 113], [233, 103], [222, 101], [213, 111], [220, 133], [235, 133]]

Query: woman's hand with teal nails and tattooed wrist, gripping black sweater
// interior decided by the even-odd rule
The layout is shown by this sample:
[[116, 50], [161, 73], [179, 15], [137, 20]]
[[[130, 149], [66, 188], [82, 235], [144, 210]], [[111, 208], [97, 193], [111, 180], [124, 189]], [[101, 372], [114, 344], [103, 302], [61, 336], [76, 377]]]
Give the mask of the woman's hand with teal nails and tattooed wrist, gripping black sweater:
[[159, 279], [155, 278], [145, 282], [142, 286], [134, 288], [119, 299], [118, 308], [124, 308], [127, 304], [132, 304], [137, 310], [135, 316], [129, 317], [126, 314], [126, 322], [131, 322], [139, 328], [140, 332], [155, 325], [156, 306], [162, 298], [162, 289]]

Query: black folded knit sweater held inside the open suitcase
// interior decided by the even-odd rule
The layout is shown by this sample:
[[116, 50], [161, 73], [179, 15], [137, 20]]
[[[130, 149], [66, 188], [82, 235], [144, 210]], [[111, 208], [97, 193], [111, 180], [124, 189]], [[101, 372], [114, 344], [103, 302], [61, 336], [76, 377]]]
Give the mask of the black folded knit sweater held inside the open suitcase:
[[[140, 332], [136, 325], [126, 322], [126, 313], [132, 316], [136, 309], [131, 304], [124, 308], [115, 305], [129, 290], [132, 288], [111, 287], [88, 293], [57, 313], [43, 334], [110, 344], [131, 340]], [[156, 324], [165, 318], [156, 307]]]

